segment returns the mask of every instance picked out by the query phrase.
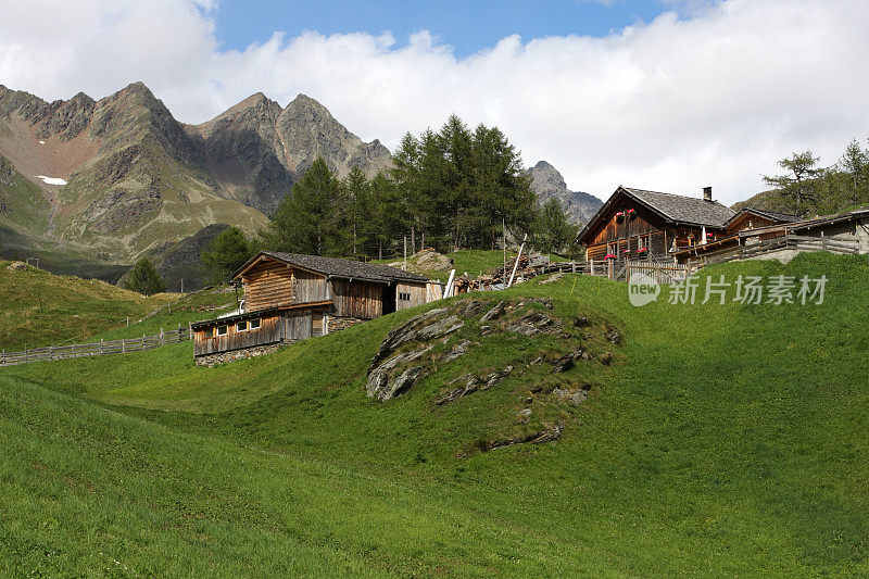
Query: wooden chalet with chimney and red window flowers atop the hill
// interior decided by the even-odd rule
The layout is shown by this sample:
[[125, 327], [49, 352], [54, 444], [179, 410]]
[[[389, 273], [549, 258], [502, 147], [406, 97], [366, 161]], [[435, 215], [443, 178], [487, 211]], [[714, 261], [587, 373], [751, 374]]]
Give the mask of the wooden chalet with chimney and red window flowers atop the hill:
[[727, 235], [735, 212], [713, 201], [711, 187], [703, 192], [698, 199], [619, 187], [576, 241], [587, 246], [589, 261], [672, 261], [675, 251]]

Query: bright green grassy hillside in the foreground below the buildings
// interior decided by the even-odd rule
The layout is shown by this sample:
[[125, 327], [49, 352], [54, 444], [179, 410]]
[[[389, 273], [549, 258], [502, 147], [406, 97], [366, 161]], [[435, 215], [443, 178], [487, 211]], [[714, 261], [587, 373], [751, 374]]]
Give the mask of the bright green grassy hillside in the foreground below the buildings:
[[[366, 369], [419, 309], [213, 369], [189, 343], [4, 368], [0, 569], [864, 575], [868, 273], [823, 254], [708, 269], [823, 274], [821, 305], [635, 309], [624, 285], [571, 276], [430, 304], [489, 301], [438, 347], [467, 353], [388, 402]], [[487, 332], [502, 299], [525, 305]], [[522, 312], [562, 329], [503, 331]], [[553, 373], [574, 340], [590, 360]], [[492, 449], [536, 421], [561, 437]]]

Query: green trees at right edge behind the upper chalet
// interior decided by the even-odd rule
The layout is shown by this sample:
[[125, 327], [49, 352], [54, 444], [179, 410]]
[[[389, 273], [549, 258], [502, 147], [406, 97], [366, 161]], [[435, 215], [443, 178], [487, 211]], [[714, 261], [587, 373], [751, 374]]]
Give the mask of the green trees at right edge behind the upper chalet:
[[777, 164], [784, 173], [763, 176], [774, 196], [765, 200], [774, 205], [769, 209], [813, 216], [869, 204], [869, 149], [856, 139], [830, 166], [821, 165], [811, 151], [793, 153]]

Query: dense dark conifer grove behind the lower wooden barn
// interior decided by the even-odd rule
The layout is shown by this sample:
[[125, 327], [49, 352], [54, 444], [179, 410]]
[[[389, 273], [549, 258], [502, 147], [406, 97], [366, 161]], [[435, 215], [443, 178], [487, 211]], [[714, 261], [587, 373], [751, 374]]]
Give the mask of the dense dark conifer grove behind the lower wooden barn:
[[424, 247], [494, 249], [529, 235], [544, 252], [569, 249], [578, 227], [561, 204], [538, 204], [519, 153], [496, 127], [470, 130], [456, 115], [439, 131], [404, 136], [393, 165], [344, 179], [317, 159], [285, 197], [268, 227], [247, 240], [224, 230], [202, 253], [210, 280], [226, 279], [261, 250], [385, 259]]

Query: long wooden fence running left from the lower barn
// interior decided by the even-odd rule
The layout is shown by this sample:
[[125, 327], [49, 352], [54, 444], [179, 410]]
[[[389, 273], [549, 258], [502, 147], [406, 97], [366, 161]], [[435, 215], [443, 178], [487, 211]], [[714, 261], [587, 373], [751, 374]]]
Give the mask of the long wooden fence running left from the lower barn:
[[160, 331], [153, 336], [141, 338], [122, 338], [90, 343], [72, 343], [70, 345], [47, 345], [34, 348], [21, 352], [0, 353], [0, 366], [11, 366], [14, 364], [25, 364], [27, 362], [47, 362], [55, 360], [68, 360], [81, 356], [101, 356], [104, 354], [126, 354], [127, 352], [141, 352], [160, 348], [167, 343], [181, 342], [190, 339], [190, 330], [178, 326], [176, 330]]

